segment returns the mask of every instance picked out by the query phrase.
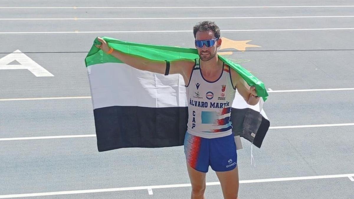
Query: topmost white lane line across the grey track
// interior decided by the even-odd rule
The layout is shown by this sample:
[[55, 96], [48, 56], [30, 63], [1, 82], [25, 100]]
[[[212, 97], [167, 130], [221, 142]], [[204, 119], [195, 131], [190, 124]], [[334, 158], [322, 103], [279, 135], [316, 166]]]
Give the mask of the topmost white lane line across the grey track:
[[296, 7], [354, 7], [352, 5], [348, 6], [188, 6], [188, 7], [0, 7], [0, 9], [78, 9], [78, 8], [127, 8], [127, 9], [137, 9], [137, 8], [156, 8], [156, 9], [173, 9], [173, 8], [296, 8]]

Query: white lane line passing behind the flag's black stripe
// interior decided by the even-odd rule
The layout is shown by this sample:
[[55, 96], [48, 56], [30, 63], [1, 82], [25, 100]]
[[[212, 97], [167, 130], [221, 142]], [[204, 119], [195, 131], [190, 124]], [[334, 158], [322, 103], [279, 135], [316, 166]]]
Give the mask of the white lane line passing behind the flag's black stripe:
[[[329, 127], [329, 126], [354, 126], [354, 123], [314, 124], [314, 125], [297, 125], [297, 126], [271, 126], [271, 127], [269, 127], [269, 129], [294, 129], [294, 128], [313, 128], [313, 127]], [[38, 139], [76, 138], [76, 137], [96, 137], [96, 135], [89, 134], [89, 135], [64, 135], [64, 136], [40, 136], [40, 137], [13, 137], [13, 138], [0, 138], [0, 141], [38, 140]]]

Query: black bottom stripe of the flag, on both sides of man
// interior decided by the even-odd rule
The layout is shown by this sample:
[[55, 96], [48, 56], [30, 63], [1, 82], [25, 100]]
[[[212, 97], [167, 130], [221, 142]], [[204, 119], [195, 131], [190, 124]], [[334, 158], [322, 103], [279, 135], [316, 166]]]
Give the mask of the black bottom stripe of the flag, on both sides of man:
[[[112, 106], [93, 110], [99, 152], [128, 147], [173, 147], [183, 145], [188, 108]], [[261, 147], [269, 121], [259, 112], [232, 108], [234, 135]]]

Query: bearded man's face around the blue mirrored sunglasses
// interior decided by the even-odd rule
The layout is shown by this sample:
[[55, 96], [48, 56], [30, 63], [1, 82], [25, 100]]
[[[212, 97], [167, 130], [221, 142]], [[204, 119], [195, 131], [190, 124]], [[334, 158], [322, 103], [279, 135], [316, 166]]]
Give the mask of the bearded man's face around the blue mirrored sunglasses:
[[[214, 32], [212, 30], [209, 31], [198, 31], [195, 34], [195, 40], [210, 40], [210, 39], [215, 39]], [[203, 45], [203, 47], [198, 47], [195, 46], [196, 49], [198, 50], [199, 57], [202, 61], [209, 61], [216, 55], [217, 48], [220, 47], [221, 45], [221, 39], [216, 40], [215, 44], [211, 47], [206, 47], [206, 45]]]

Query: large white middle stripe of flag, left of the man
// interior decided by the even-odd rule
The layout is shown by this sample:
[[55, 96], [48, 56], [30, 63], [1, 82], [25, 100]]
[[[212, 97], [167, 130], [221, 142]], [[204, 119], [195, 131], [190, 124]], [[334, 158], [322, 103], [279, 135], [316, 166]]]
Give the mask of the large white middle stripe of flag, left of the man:
[[187, 107], [184, 81], [179, 74], [165, 76], [124, 63], [95, 64], [87, 70], [93, 109], [111, 106]]

